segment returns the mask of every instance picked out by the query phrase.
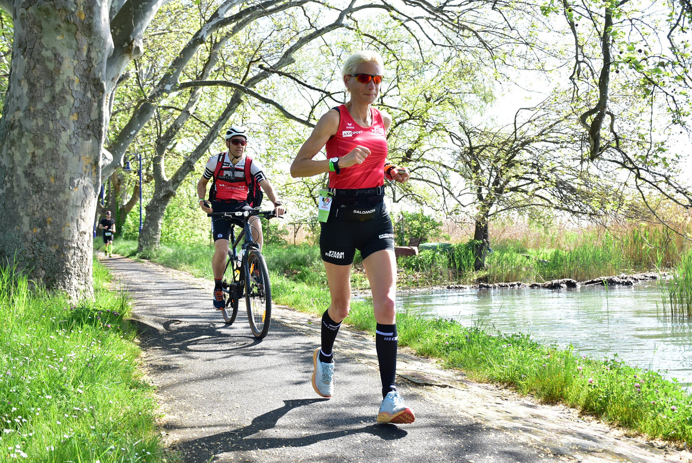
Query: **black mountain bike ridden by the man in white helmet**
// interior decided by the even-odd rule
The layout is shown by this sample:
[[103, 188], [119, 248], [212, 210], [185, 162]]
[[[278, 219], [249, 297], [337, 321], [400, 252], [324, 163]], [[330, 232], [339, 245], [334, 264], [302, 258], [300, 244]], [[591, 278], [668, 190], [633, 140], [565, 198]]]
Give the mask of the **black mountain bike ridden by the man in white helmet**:
[[[209, 212], [208, 217], [221, 217], [230, 222], [228, 260], [221, 285], [224, 289], [224, 309], [221, 314], [228, 325], [235, 322], [242, 298], [248, 309], [248, 322], [255, 338], [263, 339], [271, 322], [271, 283], [269, 271], [253, 239], [250, 217], [276, 217], [273, 210], [240, 210], [238, 212]], [[235, 236], [236, 227], [240, 231]]]

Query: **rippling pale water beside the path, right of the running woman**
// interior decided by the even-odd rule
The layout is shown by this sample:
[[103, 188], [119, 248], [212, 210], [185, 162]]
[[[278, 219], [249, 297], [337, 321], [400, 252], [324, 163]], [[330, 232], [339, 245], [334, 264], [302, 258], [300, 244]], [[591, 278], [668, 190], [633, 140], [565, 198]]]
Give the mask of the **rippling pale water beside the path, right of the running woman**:
[[692, 320], [671, 318], [657, 282], [576, 289], [454, 289], [397, 295], [397, 311], [453, 318], [486, 332], [528, 333], [574, 345], [592, 358], [618, 358], [692, 385]]

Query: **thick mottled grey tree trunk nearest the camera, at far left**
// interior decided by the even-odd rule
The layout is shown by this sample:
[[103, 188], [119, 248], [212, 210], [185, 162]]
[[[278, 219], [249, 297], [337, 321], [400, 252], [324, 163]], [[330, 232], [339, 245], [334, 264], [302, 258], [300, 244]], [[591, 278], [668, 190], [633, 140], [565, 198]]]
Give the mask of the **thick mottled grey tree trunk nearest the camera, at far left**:
[[15, 0], [0, 120], [0, 260], [72, 300], [91, 296], [112, 51], [109, 2]]

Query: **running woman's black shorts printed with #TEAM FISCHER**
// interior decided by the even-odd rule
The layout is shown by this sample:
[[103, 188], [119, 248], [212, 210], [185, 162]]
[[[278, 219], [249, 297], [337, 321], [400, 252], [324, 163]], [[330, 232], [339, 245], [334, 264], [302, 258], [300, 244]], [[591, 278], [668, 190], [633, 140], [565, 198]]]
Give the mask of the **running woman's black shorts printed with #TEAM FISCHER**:
[[[334, 201], [329, 210], [329, 218], [326, 222], [320, 222], [322, 260], [330, 264], [351, 265], [356, 249], [361, 251], [363, 259], [383, 249], [394, 251], [394, 228], [387, 207], [381, 198], [372, 207], [373, 217], [361, 220], [348, 206]], [[372, 208], [362, 210], [371, 212]], [[356, 212], [362, 215], [357, 208]]]

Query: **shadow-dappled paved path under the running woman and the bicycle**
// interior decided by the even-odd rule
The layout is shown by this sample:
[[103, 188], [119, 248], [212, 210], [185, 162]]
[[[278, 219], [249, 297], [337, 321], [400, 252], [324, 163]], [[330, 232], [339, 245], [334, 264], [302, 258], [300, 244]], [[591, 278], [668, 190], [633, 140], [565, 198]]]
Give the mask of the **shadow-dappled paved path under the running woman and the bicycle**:
[[203, 462], [692, 462], [675, 451], [466, 381], [402, 350], [408, 425], [375, 423], [381, 398], [371, 336], [342, 329], [335, 395], [312, 389], [320, 320], [275, 307], [268, 336], [211, 307], [211, 284], [123, 257], [102, 259], [133, 298], [143, 364], [158, 388], [167, 445]]

